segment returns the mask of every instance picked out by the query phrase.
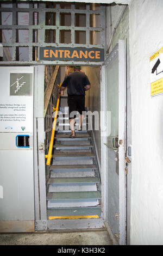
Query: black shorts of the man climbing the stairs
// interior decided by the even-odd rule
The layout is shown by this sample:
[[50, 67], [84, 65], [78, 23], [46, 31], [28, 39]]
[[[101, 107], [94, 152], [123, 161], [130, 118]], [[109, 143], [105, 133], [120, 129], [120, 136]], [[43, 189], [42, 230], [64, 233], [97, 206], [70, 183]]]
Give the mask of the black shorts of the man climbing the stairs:
[[70, 117], [72, 111], [78, 111], [80, 114], [85, 111], [85, 95], [69, 95], [67, 103], [69, 107], [69, 119], [76, 118], [76, 115], [71, 115]]

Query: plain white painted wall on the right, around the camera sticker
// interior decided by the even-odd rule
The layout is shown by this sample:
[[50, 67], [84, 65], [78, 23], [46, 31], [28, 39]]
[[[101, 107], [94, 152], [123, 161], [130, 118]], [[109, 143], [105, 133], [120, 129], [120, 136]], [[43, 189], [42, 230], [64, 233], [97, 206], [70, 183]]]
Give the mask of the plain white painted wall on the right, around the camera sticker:
[[132, 112], [131, 245], [163, 245], [163, 95], [151, 97], [149, 56], [163, 45], [162, 0], [129, 8]]

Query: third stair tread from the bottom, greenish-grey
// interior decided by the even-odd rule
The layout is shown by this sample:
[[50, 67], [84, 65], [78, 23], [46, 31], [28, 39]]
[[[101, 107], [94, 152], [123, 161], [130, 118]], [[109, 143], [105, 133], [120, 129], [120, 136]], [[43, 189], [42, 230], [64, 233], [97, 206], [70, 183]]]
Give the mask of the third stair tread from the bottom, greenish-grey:
[[82, 184], [99, 182], [97, 177], [80, 177], [80, 178], [49, 178], [48, 184]]

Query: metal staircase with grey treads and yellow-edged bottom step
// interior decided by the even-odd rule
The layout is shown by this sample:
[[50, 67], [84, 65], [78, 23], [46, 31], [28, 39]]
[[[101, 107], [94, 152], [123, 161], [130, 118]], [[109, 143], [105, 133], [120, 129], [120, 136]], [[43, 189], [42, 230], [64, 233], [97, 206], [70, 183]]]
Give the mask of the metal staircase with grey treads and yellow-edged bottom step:
[[47, 217], [101, 218], [101, 182], [91, 131], [86, 130], [84, 119], [85, 129], [76, 131], [76, 138], [70, 138], [67, 110], [60, 107], [65, 130], [58, 130], [54, 138], [47, 181]]

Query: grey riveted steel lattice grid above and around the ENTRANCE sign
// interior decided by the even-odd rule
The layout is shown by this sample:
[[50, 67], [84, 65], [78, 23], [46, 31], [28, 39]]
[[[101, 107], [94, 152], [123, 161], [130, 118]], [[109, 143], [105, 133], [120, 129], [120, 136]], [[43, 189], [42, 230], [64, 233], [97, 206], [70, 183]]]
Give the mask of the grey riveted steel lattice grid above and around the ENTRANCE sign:
[[[34, 3], [39, 3], [36, 8], [34, 8]], [[75, 9], [75, 4], [71, 3], [71, 9], [60, 9], [60, 3], [56, 3], [55, 9], [46, 8], [46, 2], [34, 2], [29, 3], [29, 8], [19, 8], [16, 3], [12, 3], [12, 8], [1, 8], [1, 12], [12, 13], [12, 25], [0, 25], [0, 29], [12, 29], [12, 41], [10, 42], [2, 42], [4, 47], [12, 47], [12, 56], [11, 61], [7, 59], [7, 61], [1, 61], [1, 65], [64, 65], [65, 62], [60, 60], [57, 61], [46, 61], [39, 60], [39, 47], [83, 47], [83, 48], [104, 48], [105, 49], [105, 5], [101, 5], [98, 10], [91, 10], [90, 3], [86, 3], [86, 8], [84, 10]], [[28, 25], [19, 25], [17, 23], [17, 15], [18, 13], [29, 13], [29, 24]], [[34, 14], [37, 13], [37, 25], [34, 22]], [[53, 13], [55, 14], [55, 22], [54, 25], [49, 25], [46, 22], [46, 14]], [[71, 25], [61, 26], [61, 14], [71, 14]], [[76, 19], [78, 15], [85, 15], [85, 27], [76, 26]], [[77, 15], [77, 16], [76, 16]], [[99, 15], [101, 17], [101, 23], [97, 27], [90, 27], [90, 17], [91, 15]], [[17, 31], [20, 29], [28, 29], [29, 31], [29, 41], [28, 42], [18, 42], [17, 39]], [[62, 42], [60, 31], [70, 31], [71, 40], [68, 44]], [[76, 33], [77, 32], [85, 32], [85, 42], [84, 44], [80, 43], [80, 41], [76, 41]], [[91, 36], [94, 33], [100, 34], [100, 42], [98, 44], [92, 44]], [[33, 40], [34, 33], [37, 33], [36, 40]], [[52, 42], [49, 42], [49, 38], [47, 39], [46, 33], [53, 33], [49, 36], [49, 38], [53, 38]], [[82, 38], [82, 37], [81, 37]], [[83, 38], [82, 38], [83, 40]], [[77, 43], [79, 42], [79, 44]], [[29, 55], [26, 61], [22, 62], [18, 60], [18, 50], [19, 47], [28, 47]], [[33, 56], [35, 54], [35, 56]], [[68, 61], [66, 65], [101, 65], [101, 62], [74, 62]]]

